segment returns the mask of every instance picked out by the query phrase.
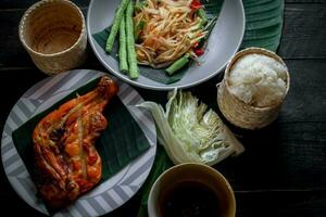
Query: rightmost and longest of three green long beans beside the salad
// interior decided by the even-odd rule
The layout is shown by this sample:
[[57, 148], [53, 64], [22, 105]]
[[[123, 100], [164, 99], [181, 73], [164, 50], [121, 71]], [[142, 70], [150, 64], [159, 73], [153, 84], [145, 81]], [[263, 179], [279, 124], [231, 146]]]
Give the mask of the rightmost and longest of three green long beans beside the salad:
[[129, 77], [137, 79], [139, 76], [137, 58], [135, 51], [135, 36], [134, 36], [134, 3], [129, 2], [126, 11], [126, 33], [127, 33], [127, 51], [128, 51], [128, 64], [129, 64]]

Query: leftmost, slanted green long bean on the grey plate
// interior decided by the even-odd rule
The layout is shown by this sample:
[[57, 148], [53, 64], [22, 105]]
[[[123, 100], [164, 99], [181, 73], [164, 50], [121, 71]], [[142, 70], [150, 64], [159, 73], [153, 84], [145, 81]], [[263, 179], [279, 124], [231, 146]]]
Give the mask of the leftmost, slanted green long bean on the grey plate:
[[111, 53], [111, 51], [112, 51], [114, 39], [117, 34], [121, 20], [123, 18], [124, 12], [125, 12], [129, 1], [130, 0], [122, 0], [120, 7], [117, 8], [117, 11], [116, 11], [114, 20], [113, 20], [113, 25], [111, 27], [111, 31], [110, 31], [110, 35], [106, 40], [105, 51], [108, 53]]

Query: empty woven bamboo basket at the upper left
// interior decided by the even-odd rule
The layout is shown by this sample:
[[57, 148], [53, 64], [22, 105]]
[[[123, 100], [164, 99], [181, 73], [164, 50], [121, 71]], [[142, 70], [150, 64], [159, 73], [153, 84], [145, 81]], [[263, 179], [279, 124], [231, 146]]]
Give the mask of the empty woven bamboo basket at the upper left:
[[49, 75], [78, 67], [86, 58], [84, 15], [67, 0], [33, 4], [21, 20], [20, 39], [36, 66]]

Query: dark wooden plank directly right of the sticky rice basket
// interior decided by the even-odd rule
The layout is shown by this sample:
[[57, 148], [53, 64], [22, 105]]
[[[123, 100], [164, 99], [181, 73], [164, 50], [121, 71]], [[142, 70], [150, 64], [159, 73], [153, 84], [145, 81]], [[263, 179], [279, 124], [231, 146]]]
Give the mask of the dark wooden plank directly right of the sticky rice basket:
[[325, 60], [287, 60], [290, 91], [279, 122], [326, 123]]

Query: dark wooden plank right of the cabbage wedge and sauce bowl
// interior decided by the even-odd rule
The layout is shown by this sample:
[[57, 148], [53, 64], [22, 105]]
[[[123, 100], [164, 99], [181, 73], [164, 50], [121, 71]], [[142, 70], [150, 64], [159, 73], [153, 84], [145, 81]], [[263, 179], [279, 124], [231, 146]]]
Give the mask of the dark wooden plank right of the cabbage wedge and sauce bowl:
[[325, 129], [326, 124], [275, 122], [254, 133], [238, 133], [246, 152], [214, 167], [235, 190], [325, 190]]

